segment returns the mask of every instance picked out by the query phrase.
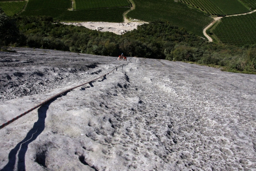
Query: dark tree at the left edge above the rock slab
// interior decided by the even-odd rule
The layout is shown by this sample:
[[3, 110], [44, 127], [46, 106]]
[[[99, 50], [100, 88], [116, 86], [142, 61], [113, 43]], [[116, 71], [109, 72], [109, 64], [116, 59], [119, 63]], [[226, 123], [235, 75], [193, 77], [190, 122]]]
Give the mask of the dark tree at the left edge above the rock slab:
[[19, 30], [15, 22], [0, 8], [0, 48], [15, 43], [18, 38]]

